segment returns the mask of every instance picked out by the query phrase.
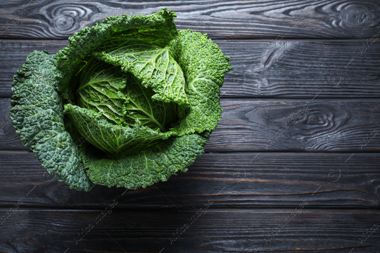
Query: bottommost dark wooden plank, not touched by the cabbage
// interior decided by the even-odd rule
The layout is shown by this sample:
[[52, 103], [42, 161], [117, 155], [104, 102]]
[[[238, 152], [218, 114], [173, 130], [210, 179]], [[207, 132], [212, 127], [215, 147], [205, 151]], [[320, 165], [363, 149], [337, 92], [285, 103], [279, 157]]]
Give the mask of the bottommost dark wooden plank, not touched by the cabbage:
[[[109, 214], [98, 218], [98, 223], [95, 218], [105, 211], [105, 207], [89, 211], [58, 211], [23, 210], [21, 205], [2, 224], [0, 247], [9, 253], [63, 253], [65, 250], [78, 253], [158, 253], [160, 250], [163, 253], [255, 250], [348, 253], [353, 248], [356, 252], [378, 253], [380, 233], [374, 224], [380, 223], [380, 212], [306, 210], [305, 206], [295, 209], [299, 204], [278, 211], [215, 210], [211, 204], [208, 209], [202, 209], [204, 214], [200, 215], [201, 206], [188, 211], [122, 211], [116, 209], [116, 204], [114, 209], [107, 209]], [[1, 209], [3, 213], [6, 211], [8, 209]], [[197, 212], [199, 217], [193, 218], [191, 223], [190, 218], [197, 217]], [[292, 217], [292, 212], [299, 214]], [[188, 225], [186, 229], [184, 224]], [[181, 230], [182, 234], [177, 232]], [[368, 236], [364, 237], [366, 232]], [[83, 239], [76, 244], [75, 240], [81, 238], [78, 233], [82, 233]], [[173, 233], [179, 236], [175, 241]], [[269, 233], [274, 236], [269, 237]], [[361, 244], [363, 238], [367, 239]]]

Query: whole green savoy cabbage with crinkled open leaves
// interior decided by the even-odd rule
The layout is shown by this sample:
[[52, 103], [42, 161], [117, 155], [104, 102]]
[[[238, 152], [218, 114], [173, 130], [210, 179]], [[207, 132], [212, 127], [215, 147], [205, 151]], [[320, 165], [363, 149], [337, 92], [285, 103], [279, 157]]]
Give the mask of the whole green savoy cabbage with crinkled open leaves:
[[[88, 191], [93, 184], [137, 189], [187, 171], [202, 156], [221, 119], [220, 86], [232, 67], [207, 35], [178, 32], [174, 17], [166, 9], [147, 16], [106, 17], [74, 33], [55, 55], [28, 55], [14, 76], [10, 115], [21, 143], [35, 152], [49, 174], [56, 171], [59, 181], [77, 190]], [[71, 80], [89, 57], [127, 74], [111, 67], [103, 76], [86, 77], [89, 84], [78, 90]], [[133, 75], [142, 86], [131, 88], [125, 75]], [[114, 82], [118, 79], [123, 82]], [[131, 91], [136, 96], [128, 96]], [[78, 94], [83, 95], [80, 107], [75, 105]], [[140, 109], [149, 111], [147, 94], [164, 104], [138, 114]], [[157, 113], [157, 122], [152, 119], [153, 110], [167, 112], [169, 107], [178, 118], [171, 128], [164, 126], [170, 120], [162, 113]], [[134, 111], [135, 116], [125, 118]]]

